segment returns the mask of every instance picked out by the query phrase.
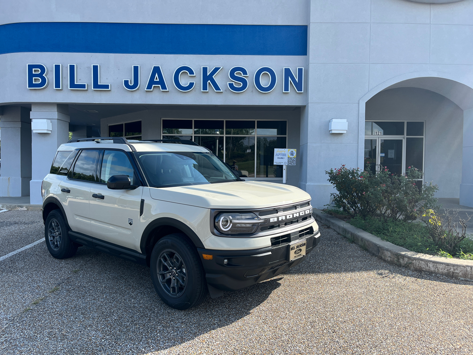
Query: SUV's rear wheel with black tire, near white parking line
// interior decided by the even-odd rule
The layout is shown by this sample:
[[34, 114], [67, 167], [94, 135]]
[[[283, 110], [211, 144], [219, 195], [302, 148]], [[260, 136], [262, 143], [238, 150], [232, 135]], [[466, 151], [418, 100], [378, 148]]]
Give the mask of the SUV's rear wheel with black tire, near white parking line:
[[72, 257], [77, 252], [77, 244], [69, 238], [69, 233], [59, 210], [48, 214], [44, 223], [44, 239], [49, 253], [56, 259]]

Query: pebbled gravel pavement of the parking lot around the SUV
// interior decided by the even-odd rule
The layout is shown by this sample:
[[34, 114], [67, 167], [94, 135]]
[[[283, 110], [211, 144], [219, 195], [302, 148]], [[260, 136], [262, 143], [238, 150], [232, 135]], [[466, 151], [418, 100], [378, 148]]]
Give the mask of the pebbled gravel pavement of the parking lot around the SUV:
[[[39, 211], [0, 223], [0, 256], [44, 235]], [[473, 354], [472, 283], [321, 231], [301, 265], [187, 311], [160, 301], [146, 267], [88, 248], [56, 260], [40, 243], [0, 262], [0, 354]]]

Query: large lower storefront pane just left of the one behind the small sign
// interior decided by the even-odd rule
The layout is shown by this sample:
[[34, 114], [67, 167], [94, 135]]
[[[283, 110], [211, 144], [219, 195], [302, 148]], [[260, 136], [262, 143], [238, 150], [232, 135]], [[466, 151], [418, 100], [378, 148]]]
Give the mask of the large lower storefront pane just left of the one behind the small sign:
[[226, 137], [225, 161], [241, 177], [254, 177], [254, 138]]

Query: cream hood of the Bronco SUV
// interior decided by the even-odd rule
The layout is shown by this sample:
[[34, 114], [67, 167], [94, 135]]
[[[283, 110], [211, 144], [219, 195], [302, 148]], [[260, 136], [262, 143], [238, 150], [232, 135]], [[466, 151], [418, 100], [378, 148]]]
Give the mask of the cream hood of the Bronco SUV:
[[204, 208], [254, 209], [310, 200], [298, 187], [264, 181], [159, 187], [149, 189], [155, 200]]

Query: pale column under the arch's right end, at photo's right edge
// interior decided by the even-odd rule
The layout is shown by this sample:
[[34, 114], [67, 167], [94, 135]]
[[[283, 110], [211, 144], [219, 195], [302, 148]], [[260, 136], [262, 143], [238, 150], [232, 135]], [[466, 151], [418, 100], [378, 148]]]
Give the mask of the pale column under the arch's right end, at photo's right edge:
[[473, 207], [473, 108], [463, 112], [462, 150], [460, 204]]

